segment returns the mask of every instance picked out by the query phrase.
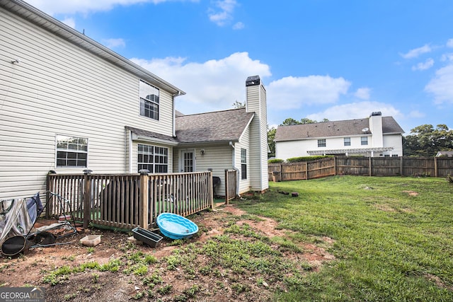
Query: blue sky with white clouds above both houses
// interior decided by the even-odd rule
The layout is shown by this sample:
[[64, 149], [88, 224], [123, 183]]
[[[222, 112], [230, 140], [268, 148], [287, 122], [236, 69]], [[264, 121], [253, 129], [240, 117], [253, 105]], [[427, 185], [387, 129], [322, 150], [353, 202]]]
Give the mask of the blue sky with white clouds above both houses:
[[187, 93], [185, 114], [268, 95], [268, 124], [381, 111], [453, 127], [451, 0], [28, 0]]

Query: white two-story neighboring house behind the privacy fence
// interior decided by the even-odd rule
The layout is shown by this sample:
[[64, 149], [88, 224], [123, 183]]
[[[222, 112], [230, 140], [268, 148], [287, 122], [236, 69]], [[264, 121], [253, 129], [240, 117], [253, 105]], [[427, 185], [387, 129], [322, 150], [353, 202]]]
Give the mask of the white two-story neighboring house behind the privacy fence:
[[369, 118], [279, 126], [275, 157], [314, 155], [403, 156], [403, 129], [393, 117], [373, 112]]

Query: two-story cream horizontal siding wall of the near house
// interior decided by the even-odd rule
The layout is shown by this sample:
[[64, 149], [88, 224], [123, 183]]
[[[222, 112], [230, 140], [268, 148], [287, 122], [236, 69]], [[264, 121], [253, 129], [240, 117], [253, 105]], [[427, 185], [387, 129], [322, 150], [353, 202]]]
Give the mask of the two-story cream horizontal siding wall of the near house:
[[[138, 76], [4, 8], [0, 28], [0, 198], [44, 190], [49, 170], [128, 172], [126, 125], [173, 134], [173, 95], [164, 89], [159, 121], [140, 117]], [[56, 167], [57, 135], [88, 139], [86, 168]]]

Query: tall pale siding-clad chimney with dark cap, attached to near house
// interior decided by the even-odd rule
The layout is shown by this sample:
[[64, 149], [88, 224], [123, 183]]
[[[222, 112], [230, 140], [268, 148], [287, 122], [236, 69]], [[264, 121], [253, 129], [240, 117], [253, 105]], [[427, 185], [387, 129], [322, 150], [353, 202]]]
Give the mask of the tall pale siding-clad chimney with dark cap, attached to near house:
[[259, 76], [246, 80], [246, 111], [255, 112], [250, 124], [251, 190], [264, 191], [268, 182], [268, 112], [266, 90]]

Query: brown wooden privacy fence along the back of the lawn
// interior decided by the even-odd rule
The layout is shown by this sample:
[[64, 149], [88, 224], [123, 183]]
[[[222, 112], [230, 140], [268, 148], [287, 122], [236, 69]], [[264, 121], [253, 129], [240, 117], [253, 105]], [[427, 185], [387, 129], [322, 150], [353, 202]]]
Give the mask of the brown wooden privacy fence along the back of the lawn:
[[453, 158], [336, 156], [300, 163], [270, 163], [269, 180], [309, 180], [330, 175], [447, 177], [453, 175]]

